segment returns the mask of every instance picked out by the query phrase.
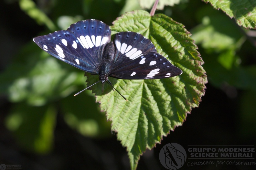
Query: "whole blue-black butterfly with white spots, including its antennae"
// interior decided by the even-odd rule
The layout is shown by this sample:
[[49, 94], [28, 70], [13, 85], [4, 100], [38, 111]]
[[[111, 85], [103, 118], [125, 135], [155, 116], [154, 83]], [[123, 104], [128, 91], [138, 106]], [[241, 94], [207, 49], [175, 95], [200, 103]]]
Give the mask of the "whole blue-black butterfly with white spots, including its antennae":
[[109, 76], [131, 80], [163, 79], [182, 74], [140, 33], [116, 33], [111, 41], [110, 27], [99, 20], [79, 21], [67, 30], [37, 36], [33, 41], [59, 60], [92, 75], [99, 75], [96, 83], [102, 83], [102, 91], [105, 82], [112, 86]]

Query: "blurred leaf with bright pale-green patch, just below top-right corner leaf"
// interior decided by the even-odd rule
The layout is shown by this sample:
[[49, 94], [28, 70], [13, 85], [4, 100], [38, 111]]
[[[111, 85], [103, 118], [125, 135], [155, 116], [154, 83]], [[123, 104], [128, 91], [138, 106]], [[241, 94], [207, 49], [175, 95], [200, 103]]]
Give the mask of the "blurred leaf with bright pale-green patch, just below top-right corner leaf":
[[[195, 40], [196, 44], [201, 44], [203, 48], [215, 52], [240, 48], [245, 40], [244, 35], [228, 16], [221, 14], [210, 6], [201, 8], [196, 14], [197, 20], [202, 22], [191, 30], [191, 38]], [[225, 23], [225, 26], [220, 26], [223, 23]]]

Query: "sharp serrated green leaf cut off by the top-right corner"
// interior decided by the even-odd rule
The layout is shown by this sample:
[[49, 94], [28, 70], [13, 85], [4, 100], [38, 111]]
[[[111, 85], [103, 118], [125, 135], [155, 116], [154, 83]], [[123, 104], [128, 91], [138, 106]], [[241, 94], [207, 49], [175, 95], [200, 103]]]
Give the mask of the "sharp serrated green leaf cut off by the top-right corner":
[[221, 9], [229, 17], [235, 18], [236, 23], [245, 28], [256, 28], [256, 1], [255, 0], [203, 0], [216, 8]]

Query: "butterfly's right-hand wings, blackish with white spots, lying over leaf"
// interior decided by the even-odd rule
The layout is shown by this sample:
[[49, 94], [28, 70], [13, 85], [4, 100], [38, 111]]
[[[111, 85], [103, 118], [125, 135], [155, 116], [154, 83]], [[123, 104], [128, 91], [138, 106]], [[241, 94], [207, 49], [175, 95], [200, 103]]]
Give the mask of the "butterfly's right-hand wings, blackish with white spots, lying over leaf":
[[115, 35], [116, 54], [110, 71], [118, 79], [162, 79], [182, 71], [156, 52], [154, 44], [143, 35], [120, 32]]

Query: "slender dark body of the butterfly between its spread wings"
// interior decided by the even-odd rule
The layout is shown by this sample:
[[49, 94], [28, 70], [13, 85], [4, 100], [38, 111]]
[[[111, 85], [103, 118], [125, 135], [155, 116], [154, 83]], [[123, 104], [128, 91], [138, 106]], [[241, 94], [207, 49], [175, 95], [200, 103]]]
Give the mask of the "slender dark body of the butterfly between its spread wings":
[[105, 83], [105, 81], [108, 80], [108, 75], [110, 71], [110, 67], [112, 64], [112, 60], [115, 54], [115, 47], [113, 42], [110, 42], [106, 45], [104, 48], [102, 58], [101, 58], [101, 64], [100, 64], [100, 71], [99, 71], [99, 80], [101, 80], [101, 83]]

